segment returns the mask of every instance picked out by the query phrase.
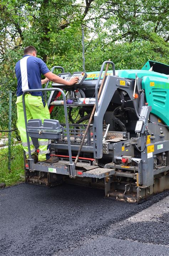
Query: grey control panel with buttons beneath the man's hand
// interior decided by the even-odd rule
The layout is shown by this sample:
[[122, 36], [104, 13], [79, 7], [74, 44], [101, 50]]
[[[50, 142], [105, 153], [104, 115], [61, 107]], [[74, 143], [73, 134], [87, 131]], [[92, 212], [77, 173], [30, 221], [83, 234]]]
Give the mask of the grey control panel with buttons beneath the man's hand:
[[[61, 74], [58, 74], [58, 76], [65, 79], [66, 81], [70, 81], [72, 78], [77, 76], [79, 80], [76, 83], [76, 85], [81, 85], [84, 79], [87, 77], [87, 74], [85, 72], [74, 72], [72, 75], [71, 73], [61, 73]], [[60, 86], [60, 85], [61, 85], [60, 83], [52, 83], [53, 87]]]

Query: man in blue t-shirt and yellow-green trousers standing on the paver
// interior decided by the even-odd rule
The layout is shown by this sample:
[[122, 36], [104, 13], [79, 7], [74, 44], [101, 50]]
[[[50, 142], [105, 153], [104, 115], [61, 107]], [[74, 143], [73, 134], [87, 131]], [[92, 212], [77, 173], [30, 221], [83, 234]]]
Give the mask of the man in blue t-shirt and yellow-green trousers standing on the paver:
[[[37, 58], [36, 48], [33, 46], [27, 46], [24, 49], [24, 57], [20, 59], [15, 66], [15, 74], [17, 78], [17, 128], [20, 132], [22, 146], [25, 150], [27, 159], [29, 158], [26, 128], [24, 121], [24, 110], [22, 104], [22, 94], [28, 89], [41, 89], [42, 84], [45, 84], [48, 80], [65, 84], [71, 86], [78, 82], [78, 77], [72, 78], [70, 81], [66, 81], [56, 74], [50, 72], [47, 68], [45, 62], [42, 59]], [[41, 74], [46, 78], [41, 80]], [[27, 121], [30, 119], [41, 119], [42, 123], [44, 119], [50, 119], [50, 112], [48, 110], [46, 101], [43, 99], [42, 92], [28, 92], [25, 94], [25, 107]], [[31, 138], [30, 149], [31, 156], [35, 163], [38, 161], [45, 161], [46, 163], [56, 163], [58, 161], [57, 157], [50, 156], [50, 144], [51, 140], [39, 139], [39, 154], [37, 158], [37, 153], [35, 146], [32, 143]]]

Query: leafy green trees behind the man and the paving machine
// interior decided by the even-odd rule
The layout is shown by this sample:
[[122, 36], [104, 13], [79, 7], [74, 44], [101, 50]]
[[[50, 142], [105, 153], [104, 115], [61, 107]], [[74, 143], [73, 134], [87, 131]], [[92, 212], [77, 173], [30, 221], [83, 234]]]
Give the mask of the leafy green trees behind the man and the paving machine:
[[148, 59], [168, 64], [168, 7], [167, 0], [1, 0], [0, 129], [8, 127], [9, 90], [16, 127], [15, 64], [27, 45], [49, 68], [82, 71], [83, 24], [88, 72], [108, 58], [116, 69], [142, 68]]

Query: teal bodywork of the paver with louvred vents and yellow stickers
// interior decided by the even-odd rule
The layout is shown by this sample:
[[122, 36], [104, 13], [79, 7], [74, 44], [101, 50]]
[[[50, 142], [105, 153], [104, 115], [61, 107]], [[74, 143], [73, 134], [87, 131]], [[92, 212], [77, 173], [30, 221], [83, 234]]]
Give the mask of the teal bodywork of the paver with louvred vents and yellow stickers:
[[[116, 76], [135, 79], [142, 78], [142, 89], [146, 101], [152, 106], [154, 115], [169, 125], [169, 66], [160, 62], [148, 61], [142, 69], [117, 70]], [[102, 73], [102, 77], [104, 72]], [[107, 75], [113, 75], [108, 71]], [[88, 72], [86, 80], [97, 79], [99, 72]]]

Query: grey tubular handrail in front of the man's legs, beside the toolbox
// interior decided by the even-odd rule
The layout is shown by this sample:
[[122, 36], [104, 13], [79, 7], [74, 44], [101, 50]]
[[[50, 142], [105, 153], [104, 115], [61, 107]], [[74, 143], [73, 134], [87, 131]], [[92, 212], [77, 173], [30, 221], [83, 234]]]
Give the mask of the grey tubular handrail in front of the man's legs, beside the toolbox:
[[25, 107], [25, 94], [27, 92], [46, 92], [46, 91], [59, 91], [61, 92], [63, 96], [63, 103], [64, 103], [64, 110], [65, 110], [65, 123], [66, 123], [66, 131], [67, 131], [67, 143], [68, 143], [68, 153], [70, 156], [70, 164], [73, 164], [72, 161], [72, 152], [71, 152], [71, 141], [70, 141], [70, 134], [69, 134], [69, 124], [68, 124], [68, 116], [67, 116], [67, 106], [66, 106], [66, 96], [65, 93], [60, 88], [45, 88], [45, 89], [32, 89], [32, 90], [26, 90], [24, 91], [22, 95], [22, 103], [23, 103], [23, 109], [24, 109], [24, 118], [25, 118], [25, 128], [26, 128], [26, 138], [27, 138], [27, 145], [28, 145], [28, 152], [29, 152], [29, 159], [32, 159], [31, 157], [31, 149], [30, 149], [30, 141], [29, 141], [29, 134], [27, 132], [27, 117], [26, 117], [26, 107]]

